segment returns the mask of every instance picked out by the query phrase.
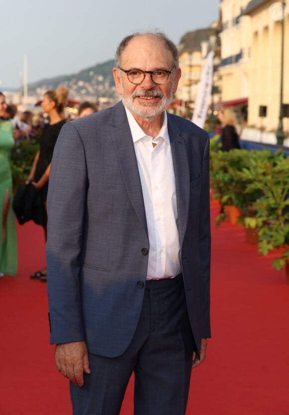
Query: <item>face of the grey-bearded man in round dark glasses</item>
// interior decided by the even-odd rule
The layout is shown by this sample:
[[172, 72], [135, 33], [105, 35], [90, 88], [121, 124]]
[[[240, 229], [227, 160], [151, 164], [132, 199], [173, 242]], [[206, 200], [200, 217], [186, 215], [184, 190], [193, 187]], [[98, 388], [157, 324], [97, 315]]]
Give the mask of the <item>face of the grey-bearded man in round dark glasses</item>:
[[[134, 37], [123, 51], [121, 65], [123, 69], [142, 69], [154, 71], [173, 68], [171, 52], [162, 39], [154, 35]], [[167, 108], [172, 94], [175, 93], [180, 78], [180, 69], [176, 68], [163, 85], [155, 84], [150, 74], [146, 74], [140, 85], [132, 84], [127, 74], [114, 69], [117, 92], [122, 95], [123, 103], [134, 115], [155, 119]]]

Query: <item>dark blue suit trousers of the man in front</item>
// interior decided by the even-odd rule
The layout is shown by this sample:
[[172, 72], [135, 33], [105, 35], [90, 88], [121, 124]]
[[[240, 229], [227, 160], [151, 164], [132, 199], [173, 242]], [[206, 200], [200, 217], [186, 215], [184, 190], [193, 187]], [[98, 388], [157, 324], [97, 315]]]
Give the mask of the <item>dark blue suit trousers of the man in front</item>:
[[127, 350], [116, 358], [90, 353], [84, 385], [70, 384], [73, 415], [119, 415], [133, 372], [135, 415], [184, 415], [194, 350], [182, 275], [147, 281]]

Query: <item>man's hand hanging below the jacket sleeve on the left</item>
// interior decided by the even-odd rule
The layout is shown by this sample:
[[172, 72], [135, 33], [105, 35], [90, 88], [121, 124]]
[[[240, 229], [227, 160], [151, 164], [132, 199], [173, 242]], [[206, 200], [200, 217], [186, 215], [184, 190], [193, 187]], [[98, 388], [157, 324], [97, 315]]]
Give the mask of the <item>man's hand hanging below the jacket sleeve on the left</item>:
[[73, 385], [83, 385], [83, 372], [90, 373], [88, 351], [84, 341], [57, 344], [55, 347], [56, 369]]

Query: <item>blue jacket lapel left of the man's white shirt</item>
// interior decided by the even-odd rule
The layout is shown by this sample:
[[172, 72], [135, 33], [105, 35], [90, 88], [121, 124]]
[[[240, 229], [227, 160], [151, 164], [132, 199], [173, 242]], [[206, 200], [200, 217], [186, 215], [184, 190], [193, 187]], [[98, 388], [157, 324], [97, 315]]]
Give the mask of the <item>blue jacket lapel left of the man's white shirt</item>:
[[130, 126], [122, 103], [113, 107], [110, 124], [113, 127], [112, 140], [129, 198], [148, 235], [139, 167]]

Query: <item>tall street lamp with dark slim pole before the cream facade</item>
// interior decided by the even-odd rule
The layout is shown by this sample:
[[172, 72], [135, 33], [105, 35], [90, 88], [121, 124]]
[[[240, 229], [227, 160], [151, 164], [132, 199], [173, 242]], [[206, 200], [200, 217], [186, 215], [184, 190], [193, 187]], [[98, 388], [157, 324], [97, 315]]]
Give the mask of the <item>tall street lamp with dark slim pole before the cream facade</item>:
[[285, 134], [283, 133], [283, 72], [284, 72], [284, 20], [285, 20], [285, 0], [282, 2], [273, 3], [269, 12], [274, 20], [281, 21], [281, 81], [280, 81], [280, 112], [279, 112], [279, 124], [276, 132], [276, 138], [278, 144], [283, 145]]

